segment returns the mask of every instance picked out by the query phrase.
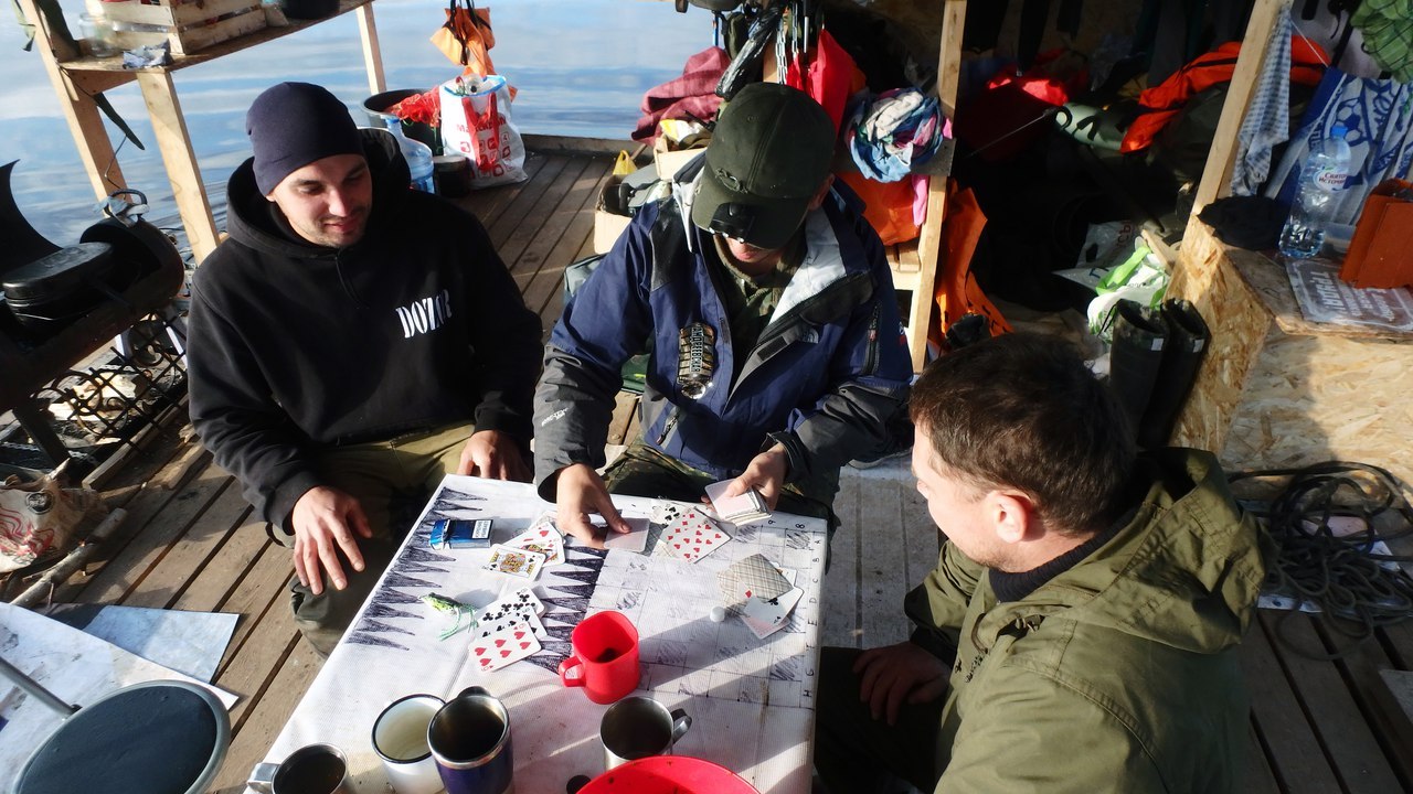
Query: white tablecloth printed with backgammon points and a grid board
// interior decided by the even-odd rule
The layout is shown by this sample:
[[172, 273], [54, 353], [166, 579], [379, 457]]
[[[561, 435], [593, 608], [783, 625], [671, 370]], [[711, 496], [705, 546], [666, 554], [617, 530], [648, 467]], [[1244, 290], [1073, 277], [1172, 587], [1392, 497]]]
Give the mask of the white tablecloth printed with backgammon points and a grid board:
[[[647, 517], [654, 500], [615, 497], [615, 503], [625, 516]], [[383, 706], [414, 692], [451, 698], [482, 685], [510, 711], [516, 791], [558, 794], [571, 777], [603, 770], [598, 726], [608, 706], [565, 688], [555, 668], [585, 615], [616, 609], [639, 630], [639, 694], [670, 709], [684, 708], [692, 718], [678, 754], [719, 763], [763, 794], [810, 791], [825, 523], [777, 513], [770, 523], [728, 526], [733, 541], [695, 564], [657, 550], [656, 526], [646, 554], [571, 544], [565, 562], [534, 581], [550, 633], [543, 650], [495, 672], [475, 670], [468, 661], [469, 636], [438, 640], [447, 617], [418, 598], [437, 592], [479, 608], [524, 579], [482, 571], [485, 550], [430, 548], [432, 521], [493, 519], [493, 540], [502, 543], [550, 509], [528, 485], [448, 476], [266, 760], [332, 742], [349, 757], [355, 791], [391, 791], [370, 745]], [[709, 619], [721, 602], [716, 572], [756, 552], [793, 572], [804, 589], [788, 624], [764, 640], [736, 616], [722, 623]]]

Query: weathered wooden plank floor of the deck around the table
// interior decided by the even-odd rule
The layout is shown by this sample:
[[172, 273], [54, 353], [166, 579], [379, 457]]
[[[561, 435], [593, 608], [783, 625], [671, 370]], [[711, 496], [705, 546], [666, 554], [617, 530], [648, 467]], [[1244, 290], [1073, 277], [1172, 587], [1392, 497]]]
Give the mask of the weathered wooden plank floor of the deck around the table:
[[[592, 209], [616, 148], [533, 153], [531, 179], [479, 191], [482, 218], [545, 333], [561, 307], [567, 264], [591, 250]], [[636, 400], [619, 401], [610, 442], [636, 435]], [[240, 486], [189, 438], [178, 415], [151, 432], [102, 489], [127, 520], [52, 602], [120, 603], [240, 616], [215, 684], [240, 695], [235, 740], [215, 791], [243, 791], [250, 767], [317, 675], [321, 660], [294, 627], [290, 554], [250, 526]], [[907, 461], [845, 469], [835, 503], [842, 528], [825, 578], [824, 641], [872, 647], [906, 639], [903, 595], [931, 569], [938, 535], [907, 475]], [[1382, 629], [1338, 661], [1290, 648], [1334, 639], [1306, 615], [1263, 612], [1242, 647], [1253, 697], [1248, 774], [1258, 793], [1413, 791], [1413, 746], [1378, 671], [1410, 670], [1413, 626]]]

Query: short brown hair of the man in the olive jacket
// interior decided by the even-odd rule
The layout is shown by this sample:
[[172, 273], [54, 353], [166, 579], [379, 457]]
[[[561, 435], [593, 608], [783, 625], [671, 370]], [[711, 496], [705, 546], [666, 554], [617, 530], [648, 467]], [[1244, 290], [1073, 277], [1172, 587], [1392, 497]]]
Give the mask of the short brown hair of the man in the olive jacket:
[[1135, 445], [1109, 389], [1074, 345], [1010, 333], [933, 362], [909, 413], [934, 463], [982, 490], [1015, 487], [1064, 534], [1116, 517]]

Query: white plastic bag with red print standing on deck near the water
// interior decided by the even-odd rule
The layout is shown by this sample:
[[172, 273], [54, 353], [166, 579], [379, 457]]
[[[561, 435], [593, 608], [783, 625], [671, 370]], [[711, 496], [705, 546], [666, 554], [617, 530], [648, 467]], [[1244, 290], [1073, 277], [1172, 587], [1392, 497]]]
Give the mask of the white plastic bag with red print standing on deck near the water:
[[473, 188], [523, 182], [526, 147], [510, 122], [510, 86], [506, 78], [465, 76], [442, 83], [442, 147], [471, 160]]

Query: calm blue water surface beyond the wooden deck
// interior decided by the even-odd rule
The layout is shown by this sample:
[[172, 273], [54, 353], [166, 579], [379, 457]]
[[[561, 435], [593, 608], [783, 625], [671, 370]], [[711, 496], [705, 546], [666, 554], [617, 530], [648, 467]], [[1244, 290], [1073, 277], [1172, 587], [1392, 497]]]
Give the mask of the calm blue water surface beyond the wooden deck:
[[[82, 4], [64, 0], [64, 7], [76, 16]], [[445, 7], [435, 0], [374, 3], [389, 89], [428, 89], [456, 76], [459, 69], [427, 41]], [[499, 0], [490, 8], [492, 57], [520, 89], [513, 117], [527, 133], [626, 140], [643, 92], [680, 75], [682, 62], [709, 47], [714, 35], [709, 13], [691, 7], [678, 14], [671, 3], [654, 0]], [[13, 177], [20, 209], [42, 235], [68, 244], [99, 216], [44, 64], [37, 52], [23, 51], [23, 42], [20, 27], [6, 14], [0, 20], [6, 75], [0, 82], [0, 162], [20, 160]], [[226, 178], [249, 157], [244, 113], [250, 102], [291, 79], [326, 86], [366, 123], [362, 102], [369, 90], [356, 16], [174, 72], [213, 203], [225, 203]], [[141, 92], [129, 83], [107, 97], [147, 147], [140, 151], [126, 143], [119, 150], [129, 186], [147, 194], [150, 220], [178, 226]], [[109, 127], [116, 146], [120, 133]]]

